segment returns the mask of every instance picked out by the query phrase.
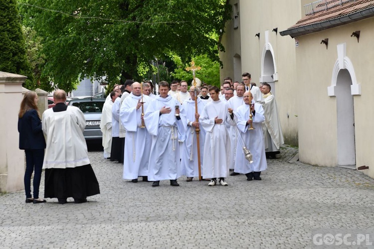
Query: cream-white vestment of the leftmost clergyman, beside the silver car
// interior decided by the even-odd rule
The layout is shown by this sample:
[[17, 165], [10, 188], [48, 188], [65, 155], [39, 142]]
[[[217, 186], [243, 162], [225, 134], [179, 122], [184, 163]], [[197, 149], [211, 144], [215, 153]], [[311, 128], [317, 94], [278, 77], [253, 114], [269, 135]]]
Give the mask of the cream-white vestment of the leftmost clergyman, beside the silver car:
[[105, 102], [101, 112], [100, 130], [103, 132], [102, 145], [105, 159], [110, 157], [112, 149], [112, 107], [113, 101]]

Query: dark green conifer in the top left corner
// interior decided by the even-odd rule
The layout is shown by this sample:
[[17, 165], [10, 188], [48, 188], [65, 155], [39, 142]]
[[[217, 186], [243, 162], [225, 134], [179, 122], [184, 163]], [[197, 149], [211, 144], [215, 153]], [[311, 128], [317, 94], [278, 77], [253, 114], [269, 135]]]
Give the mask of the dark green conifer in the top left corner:
[[0, 0], [0, 48], [0, 71], [27, 76], [23, 86], [34, 89], [15, 0]]

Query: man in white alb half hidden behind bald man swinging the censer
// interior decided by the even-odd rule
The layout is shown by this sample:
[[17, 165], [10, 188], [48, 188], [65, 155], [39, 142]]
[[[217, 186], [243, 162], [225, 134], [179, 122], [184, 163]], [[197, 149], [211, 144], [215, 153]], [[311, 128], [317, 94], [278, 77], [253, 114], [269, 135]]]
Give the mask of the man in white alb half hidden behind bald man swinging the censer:
[[[245, 86], [244, 84], [239, 84], [236, 87], [236, 96], [230, 98], [227, 101], [227, 106], [228, 108], [231, 108], [234, 112], [238, 107], [242, 106], [244, 104], [244, 99], [243, 99], [243, 94], [245, 92]], [[234, 169], [235, 166], [235, 154], [236, 154], [236, 143], [238, 141], [237, 136], [236, 136], [236, 131], [235, 131], [235, 126], [234, 123], [230, 120], [230, 129], [228, 133], [230, 134], [230, 169]], [[232, 172], [230, 175], [238, 175], [238, 172]]]

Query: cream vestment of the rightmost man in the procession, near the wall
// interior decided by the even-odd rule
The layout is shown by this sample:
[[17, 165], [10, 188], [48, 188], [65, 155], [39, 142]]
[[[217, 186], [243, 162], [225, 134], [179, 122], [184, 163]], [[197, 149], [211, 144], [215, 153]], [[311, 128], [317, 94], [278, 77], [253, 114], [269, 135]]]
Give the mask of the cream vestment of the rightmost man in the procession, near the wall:
[[265, 100], [265, 103], [262, 105], [265, 116], [263, 125], [265, 151], [279, 151], [280, 146], [284, 144], [284, 140], [278, 116], [277, 102], [271, 92], [263, 97]]

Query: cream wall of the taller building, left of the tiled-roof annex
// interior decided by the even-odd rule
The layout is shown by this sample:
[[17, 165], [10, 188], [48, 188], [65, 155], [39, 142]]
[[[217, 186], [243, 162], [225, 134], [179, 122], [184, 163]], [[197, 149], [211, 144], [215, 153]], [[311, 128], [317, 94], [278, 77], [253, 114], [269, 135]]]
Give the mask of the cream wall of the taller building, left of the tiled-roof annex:
[[[282, 130], [286, 143], [297, 145], [296, 116], [298, 112], [295, 96], [298, 83], [296, 81], [295, 41], [289, 36], [280, 36], [279, 32], [292, 26], [301, 18], [300, 1], [240, 0], [239, 3], [242, 72], [251, 73], [252, 82], [259, 83], [265, 30], [269, 30], [269, 42], [274, 50], [276, 71], [279, 76], [275, 87]], [[277, 34], [272, 32], [276, 27], [278, 27]], [[256, 33], [260, 33], [260, 39], [255, 37]], [[233, 42], [232, 37], [225, 37], [224, 41], [226, 44]], [[227, 59], [229, 57], [221, 56], [224, 65], [232, 64], [232, 59]], [[289, 118], [287, 118], [287, 113]]]

